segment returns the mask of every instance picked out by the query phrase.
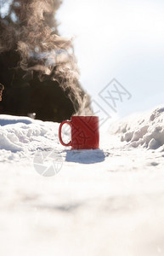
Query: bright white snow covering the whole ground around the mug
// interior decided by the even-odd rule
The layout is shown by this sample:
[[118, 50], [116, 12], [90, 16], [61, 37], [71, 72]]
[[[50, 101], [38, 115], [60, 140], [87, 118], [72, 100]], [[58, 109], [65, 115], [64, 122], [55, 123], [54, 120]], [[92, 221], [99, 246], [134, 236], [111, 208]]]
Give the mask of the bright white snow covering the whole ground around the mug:
[[0, 255], [164, 255], [164, 108], [110, 125], [98, 150], [63, 147], [52, 122], [0, 125]]

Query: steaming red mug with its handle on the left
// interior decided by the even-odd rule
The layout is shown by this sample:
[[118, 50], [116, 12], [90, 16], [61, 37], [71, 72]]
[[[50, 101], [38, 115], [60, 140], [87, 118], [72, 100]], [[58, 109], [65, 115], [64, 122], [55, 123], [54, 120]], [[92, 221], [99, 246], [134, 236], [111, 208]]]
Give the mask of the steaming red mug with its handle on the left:
[[[65, 144], [61, 137], [64, 124], [71, 126], [71, 141]], [[59, 142], [71, 149], [99, 148], [99, 117], [98, 116], [72, 116], [71, 121], [64, 121], [59, 125]]]

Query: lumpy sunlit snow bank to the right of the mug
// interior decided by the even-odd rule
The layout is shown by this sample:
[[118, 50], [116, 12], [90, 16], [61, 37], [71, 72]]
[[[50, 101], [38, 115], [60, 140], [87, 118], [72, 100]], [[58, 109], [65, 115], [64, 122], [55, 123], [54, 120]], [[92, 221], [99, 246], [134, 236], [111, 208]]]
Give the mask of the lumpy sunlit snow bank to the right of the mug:
[[110, 133], [134, 148], [164, 148], [164, 106], [117, 121], [110, 126]]

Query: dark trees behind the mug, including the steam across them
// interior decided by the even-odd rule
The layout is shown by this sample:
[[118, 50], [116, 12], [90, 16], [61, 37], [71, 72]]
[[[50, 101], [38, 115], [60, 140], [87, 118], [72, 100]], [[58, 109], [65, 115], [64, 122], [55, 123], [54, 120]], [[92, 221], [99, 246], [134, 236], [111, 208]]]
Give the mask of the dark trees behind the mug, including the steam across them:
[[62, 121], [91, 111], [71, 40], [59, 37], [60, 1], [0, 3], [0, 83], [5, 86], [0, 113]]

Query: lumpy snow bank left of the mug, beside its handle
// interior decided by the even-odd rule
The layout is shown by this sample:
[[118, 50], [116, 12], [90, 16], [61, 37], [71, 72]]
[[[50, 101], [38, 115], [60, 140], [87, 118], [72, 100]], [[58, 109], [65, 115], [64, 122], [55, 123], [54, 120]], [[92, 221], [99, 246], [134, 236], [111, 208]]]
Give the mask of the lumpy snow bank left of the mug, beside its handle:
[[0, 149], [22, 151], [25, 155], [27, 151], [52, 148], [58, 126], [28, 117], [0, 115]]

